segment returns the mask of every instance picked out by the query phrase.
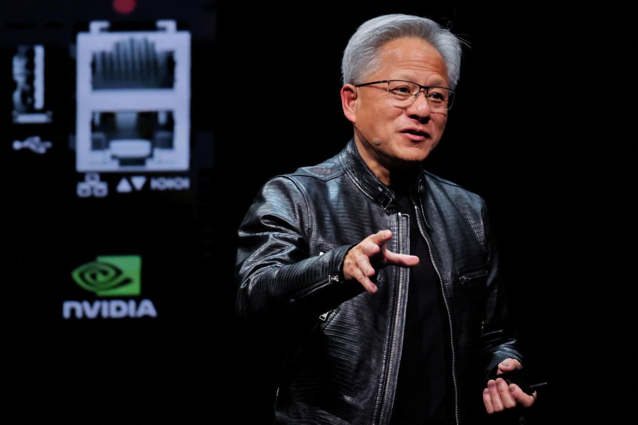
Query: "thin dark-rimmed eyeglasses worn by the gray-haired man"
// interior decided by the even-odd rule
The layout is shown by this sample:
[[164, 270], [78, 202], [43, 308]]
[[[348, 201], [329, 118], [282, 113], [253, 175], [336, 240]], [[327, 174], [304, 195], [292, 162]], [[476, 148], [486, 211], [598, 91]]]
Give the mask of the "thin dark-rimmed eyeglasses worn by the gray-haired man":
[[401, 108], [408, 108], [408, 106], [413, 104], [419, 97], [421, 90], [426, 90], [427, 103], [432, 109], [449, 110], [452, 108], [452, 102], [454, 102], [454, 90], [452, 89], [447, 87], [427, 87], [411, 81], [382, 80], [357, 84], [355, 87], [364, 87], [372, 84], [386, 84], [385, 89], [388, 90], [392, 103]]

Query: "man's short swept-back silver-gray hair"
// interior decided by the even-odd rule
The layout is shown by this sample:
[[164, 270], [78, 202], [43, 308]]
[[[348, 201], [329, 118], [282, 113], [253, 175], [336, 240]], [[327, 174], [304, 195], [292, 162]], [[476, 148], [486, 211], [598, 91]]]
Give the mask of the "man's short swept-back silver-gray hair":
[[343, 83], [364, 83], [362, 78], [381, 66], [379, 49], [403, 37], [421, 38], [436, 48], [447, 65], [450, 89], [456, 87], [461, 73], [461, 40], [431, 19], [401, 14], [367, 20], [350, 37], [341, 61]]

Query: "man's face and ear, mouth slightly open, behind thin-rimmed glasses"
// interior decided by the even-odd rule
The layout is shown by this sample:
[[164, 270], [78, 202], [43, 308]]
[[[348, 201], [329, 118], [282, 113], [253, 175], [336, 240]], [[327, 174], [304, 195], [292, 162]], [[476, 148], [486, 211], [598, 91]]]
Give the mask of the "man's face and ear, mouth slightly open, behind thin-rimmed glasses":
[[[438, 50], [420, 38], [399, 38], [383, 45], [381, 67], [366, 76], [365, 81], [407, 80], [428, 87], [450, 87], [447, 66]], [[447, 110], [434, 110], [427, 103], [424, 90], [407, 108], [393, 104], [386, 85], [353, 87], [352, 113], [355, 140], [362, 157], [371, 159], [387, 170], [406, 168], [423, 161], [437, 145]], [[345, 89], [345, 87], [344, 87]], [[343, 92], [343, 89], [342, 89]], [[346, 110], [346, 107], [344, 107]], [[373, 139], [378, 138], [376, 143]], [[371, 164], [369, 164], [371, 165]], [[376, 171], [375, 171], [376, 173]]]

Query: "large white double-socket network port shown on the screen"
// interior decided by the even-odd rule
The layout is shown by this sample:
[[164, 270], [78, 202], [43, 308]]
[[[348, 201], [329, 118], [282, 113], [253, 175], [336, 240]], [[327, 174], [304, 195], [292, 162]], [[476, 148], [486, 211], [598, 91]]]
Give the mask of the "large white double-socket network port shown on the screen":
[[77, 38], [76, 168], [184, 171], [189, 165], [190, 34], [109, 32], [91, 22]]

